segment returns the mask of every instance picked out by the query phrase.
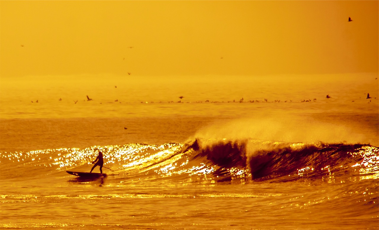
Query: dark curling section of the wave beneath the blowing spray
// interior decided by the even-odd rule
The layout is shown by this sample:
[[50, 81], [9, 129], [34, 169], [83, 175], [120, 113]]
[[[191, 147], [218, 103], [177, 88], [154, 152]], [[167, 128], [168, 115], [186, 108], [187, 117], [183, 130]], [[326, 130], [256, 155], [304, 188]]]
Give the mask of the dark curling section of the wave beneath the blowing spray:
[[204, 156], [220, 168], [245, 168], [253, 180], [379, 175], [379, 148], [362, 144], [196, 139], [191, 147], [197, 150], [196, 156]]

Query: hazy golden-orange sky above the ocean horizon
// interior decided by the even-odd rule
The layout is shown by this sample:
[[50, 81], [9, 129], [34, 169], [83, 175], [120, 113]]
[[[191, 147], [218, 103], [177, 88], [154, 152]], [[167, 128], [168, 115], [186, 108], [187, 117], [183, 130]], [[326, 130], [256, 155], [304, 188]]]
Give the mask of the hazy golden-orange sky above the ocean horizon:
[[1, 1], [0, 76], [378, 72], [378, 3]]

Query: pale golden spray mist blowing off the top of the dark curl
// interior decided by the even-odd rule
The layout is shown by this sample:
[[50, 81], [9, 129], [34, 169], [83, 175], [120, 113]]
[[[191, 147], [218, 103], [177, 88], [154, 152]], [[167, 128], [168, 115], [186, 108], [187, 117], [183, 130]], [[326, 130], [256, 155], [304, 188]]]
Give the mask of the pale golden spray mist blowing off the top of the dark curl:
[[305, 118], [298, 114], [283, 113], [282, 116], [275, 118], [266, 116], [241, 118], [224, 124], [220, 123], [202, 128], [197, 131], [195, 136], [205, 139], [211, 137], [231, 140], [252, 138], [282, 142], [348, 144], [364, 144], [367, 139], [371, 139], [362, 133], [359, 127], [327, 124], [312, 117]]

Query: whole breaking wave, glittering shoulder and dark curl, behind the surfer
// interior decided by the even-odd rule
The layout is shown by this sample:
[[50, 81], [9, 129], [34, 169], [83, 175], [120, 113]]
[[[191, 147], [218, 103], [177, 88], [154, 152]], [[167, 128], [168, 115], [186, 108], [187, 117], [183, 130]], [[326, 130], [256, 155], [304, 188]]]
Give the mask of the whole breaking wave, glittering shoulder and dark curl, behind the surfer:
[[[2, 152], [1, 177], [89, 171], [98, 151], [114, 178], [191, 181], [293, 181], [379, 178], [379, 148], [363, 144], [288, 143], [255, 139], [195, 139], [162, 145], [125, 144], [85, 149]], [[6, 170], [12, 169], [12, 170]], [[33, 174], [30, 171], [33, 170]], [[66, 175], [65, 175], [66, 176]]]

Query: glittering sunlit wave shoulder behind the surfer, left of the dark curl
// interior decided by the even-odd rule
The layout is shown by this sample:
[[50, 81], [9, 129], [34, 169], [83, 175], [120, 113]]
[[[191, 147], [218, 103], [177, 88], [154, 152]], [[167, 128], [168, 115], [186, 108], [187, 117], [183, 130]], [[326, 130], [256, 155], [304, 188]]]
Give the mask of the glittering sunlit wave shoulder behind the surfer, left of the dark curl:
[[162, 145], [127, 144], [124, 146], [92, 146], [85, 149], [61, 148], [29, 152], [1, 152], [0, 163], [6, 162], [8, 167], [44, 166], [55, 171], [62, 171], [91, 164], [97, 156], [97, 152], [101, 151], [104, 155], [104, 166], [111, 166], [113, 169], [130, 169], [141, 164], [143, 167], [147, 167], [170, 158], [182, 146], [183, 144], [175, 143]]

